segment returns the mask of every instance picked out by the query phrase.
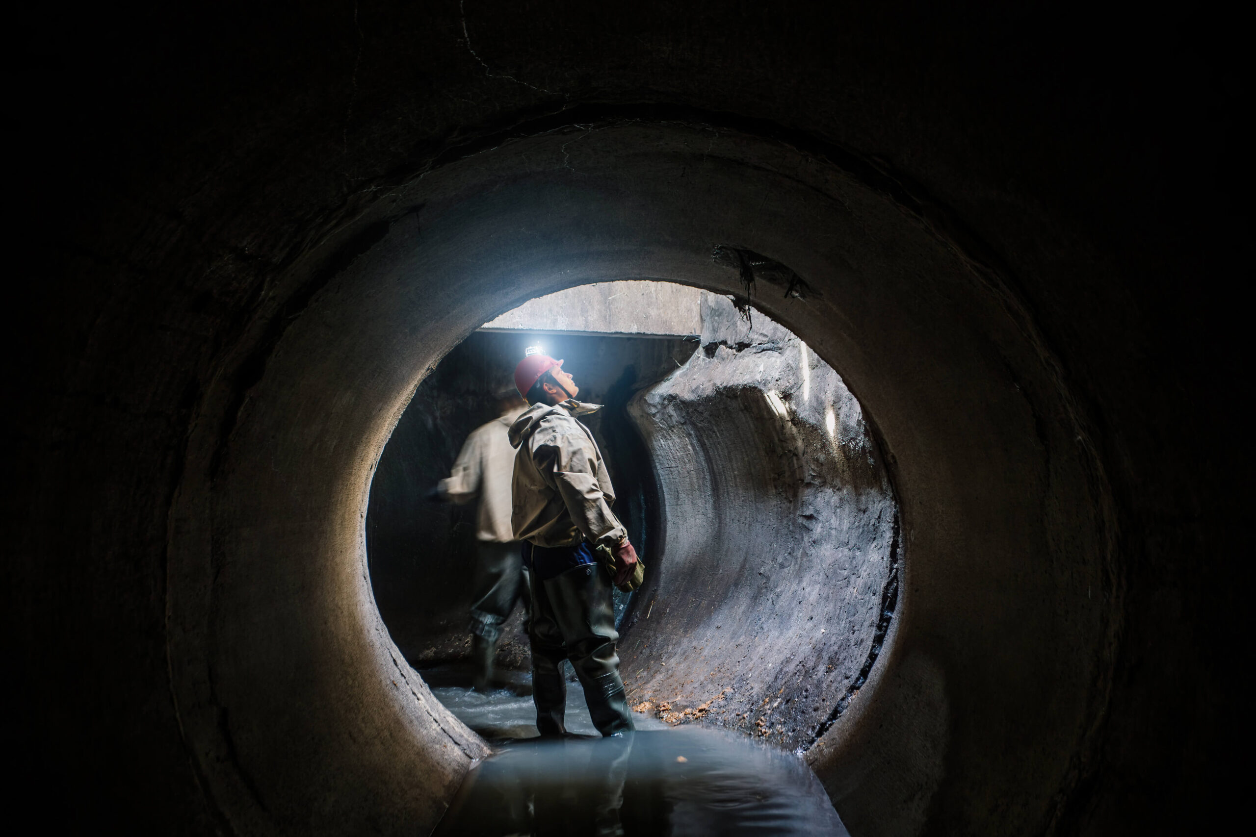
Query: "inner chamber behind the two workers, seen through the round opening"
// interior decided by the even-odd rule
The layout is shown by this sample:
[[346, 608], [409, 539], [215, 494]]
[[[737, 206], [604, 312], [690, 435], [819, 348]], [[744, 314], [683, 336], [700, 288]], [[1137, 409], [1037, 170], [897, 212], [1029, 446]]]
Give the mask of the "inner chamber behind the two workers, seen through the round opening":
[[[536, 302], [627, 311], [648, 285], [662, 284], [603, 282]], [[492, 418], [491, 394], [524, 345], [544, 341], [566, 358], [582, 400], [605, 404], [587, 422], [648, 567], [617, 614], [638, 717], [713, 723], [805, 753], [867, 681], [892, 624], [901, 556], [889, 478], [859, 403], [806, 344], [728, 296], [664, 287], [677, 289], [668, 301], [690, 317], [671, 338], [590, 336], [619, 326], [588, 323], [480, 330], [441, 361], [373, 481], [374, 597], [407, 660], [442, 685], [443, 669], [431, 666], [465, 660], [470, 645], [474, 509], [423, 496], [467, 433]], [[642, 319], [646, 330], [667, 330]], [[526, 671], [520, 621], [521, 609], [497, 664]], [[455, 712], [490, 737], [535, 734], [528, 718]]]

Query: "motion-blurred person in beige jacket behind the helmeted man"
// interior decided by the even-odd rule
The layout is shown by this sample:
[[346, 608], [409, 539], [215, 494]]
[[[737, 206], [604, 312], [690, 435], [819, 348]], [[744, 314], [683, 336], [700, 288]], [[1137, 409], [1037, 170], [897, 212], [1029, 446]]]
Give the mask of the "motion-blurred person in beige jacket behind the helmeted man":
[[510, 520], [515, 452], [506, 438], [525, 404], [514, 389], [499, 390], [496, 402], [497, 418], [471, 432], [453, 469], [437, 484], [432, 497], [460, 506], [480, 501], [470, 619], [472, 688], [476, 691], [492, 688], [502, 625], [510, 619], [516, 601], [524, 599], [526, 607], [528, 596], [526, 570], [519, 561], [519, 543]]

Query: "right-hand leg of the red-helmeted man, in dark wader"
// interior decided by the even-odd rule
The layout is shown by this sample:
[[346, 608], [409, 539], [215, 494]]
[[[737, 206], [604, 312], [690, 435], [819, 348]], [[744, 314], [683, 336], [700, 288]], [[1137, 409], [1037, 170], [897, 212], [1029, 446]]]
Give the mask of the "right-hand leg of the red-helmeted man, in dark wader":
[[600, 563], [568, 570], [540, 585], [563, 632], [593, 725], [603, 735], [631, 732], [632, 713], [615, 654], [610, 576]]

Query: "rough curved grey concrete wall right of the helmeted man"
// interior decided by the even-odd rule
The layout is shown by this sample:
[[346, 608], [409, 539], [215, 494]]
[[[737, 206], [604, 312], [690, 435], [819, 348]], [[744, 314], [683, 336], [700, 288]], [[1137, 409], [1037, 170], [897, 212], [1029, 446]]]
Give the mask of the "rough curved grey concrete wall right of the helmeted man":
[[620, 645], [632, 703], [810, 750], [897, 602], [898, 508], [859, 403], [789, 330], [703, 291], [701, 350], [631, 409], [666, 527]]

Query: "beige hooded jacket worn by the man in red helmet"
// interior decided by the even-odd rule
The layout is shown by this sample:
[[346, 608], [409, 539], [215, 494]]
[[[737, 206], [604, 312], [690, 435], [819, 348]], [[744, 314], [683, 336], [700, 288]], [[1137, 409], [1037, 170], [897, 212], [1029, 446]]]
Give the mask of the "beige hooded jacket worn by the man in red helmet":
[[569, 399], [533, 404], [510, 428], [515, 453], [511, 526], [536, 546], [570, 546], [587, 538], [614, 546], [628, 536], [610, 511], [615, 491], [589, 428], [575, 419], [599, 404]]

